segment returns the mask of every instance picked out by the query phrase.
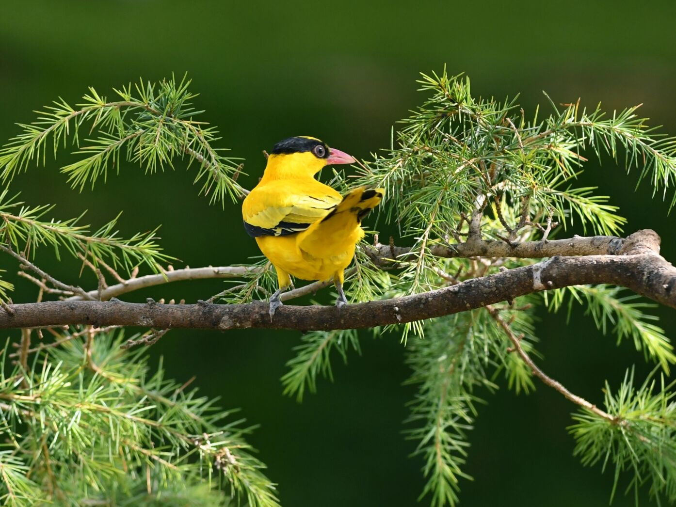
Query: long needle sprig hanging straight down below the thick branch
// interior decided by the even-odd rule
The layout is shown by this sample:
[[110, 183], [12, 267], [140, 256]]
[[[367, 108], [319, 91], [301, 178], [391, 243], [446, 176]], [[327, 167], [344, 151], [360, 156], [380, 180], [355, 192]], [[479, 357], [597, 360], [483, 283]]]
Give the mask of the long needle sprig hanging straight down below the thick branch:
[[459, 480], [471, 479], [462, 465], [469, 446], [467, 433], [477, 415], [475, 403], [481, 401], [471, 391], [495, 386], [486, 379], [485, 357], [473, 352], [483, 349], [483, 344], [473, 343], [483, 336], [475, 329], [474, 312], [437, 320], [430, 328], [425, 340], [414, 341], [408, 349], [413, 373], [407, 383], [419, 387], [406, 420], [414, 428], [406, 435], [418, 441], [413, 456], [425, 459], [427, 483], [418, 500], [430, 494], [432, 506], [454, 506]]

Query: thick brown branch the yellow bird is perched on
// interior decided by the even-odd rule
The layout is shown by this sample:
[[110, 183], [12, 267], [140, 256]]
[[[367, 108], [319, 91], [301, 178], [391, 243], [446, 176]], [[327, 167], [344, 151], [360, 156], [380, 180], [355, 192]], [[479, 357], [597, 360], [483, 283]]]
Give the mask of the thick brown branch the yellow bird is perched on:
[[[538, 264], [470, 279], [451, 287], [347, 305], [340, 310], [333, 306], [287, 305], [279, 308], [270, 319], [268, 305], [260, 301], [236, 305], [49, 301], [11, 305], [15, 313], [0, 313], [0, 328], [94, 324], [218, 331], [248, 328], [302, 331], [357, 329], [464, 312], [537, 291], [599, 283], [627, 287], [660, 304], [676, 308], [676, 268], [659, 256], [659, 237], [654, 231], [639, 231], [625, 240], [604, 241], [606, 252], [603, 255], [556, 256]], [[542, 249], [548, 249], [550, 243], [554, 241], [544, 243]], [[588, 243], [590, 247], [594, 246], [592, 241]], [[565, 248], [563, 245], [564, 251]], [[600, 248], [595, 247], [597, 252]]]

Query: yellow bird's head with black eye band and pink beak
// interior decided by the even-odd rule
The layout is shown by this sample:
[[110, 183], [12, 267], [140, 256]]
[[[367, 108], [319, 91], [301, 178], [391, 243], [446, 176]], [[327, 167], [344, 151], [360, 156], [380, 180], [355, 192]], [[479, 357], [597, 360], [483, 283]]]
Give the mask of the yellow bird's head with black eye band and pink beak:
[[353, 164], [354, 158], [339, 149], [329, 148], [327, 143], [315, 137], [289, 137], [279, 141], [268, 156], [266, 176], [301, 177], [314, 176], [324, 166]]

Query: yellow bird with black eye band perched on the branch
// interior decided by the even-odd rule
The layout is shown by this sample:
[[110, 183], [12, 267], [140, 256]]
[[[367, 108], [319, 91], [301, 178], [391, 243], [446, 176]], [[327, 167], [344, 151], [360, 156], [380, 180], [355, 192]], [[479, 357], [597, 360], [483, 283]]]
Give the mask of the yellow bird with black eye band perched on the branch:
[[329, 281], [338, 290], [336, 306], [347, 303], [343, 271], [364, 237], [361, 221], [380, 203], [383, 189], [359, 187], [345, 197], [314, 176], [330, 164], [354, 158], [314, 137], [290, 137], [274, 145], [260, 182], [242, 204], [244, 227], [256, 238], [277, 273], [279, 289], [270, 297], [270, 316], [291, 276]]

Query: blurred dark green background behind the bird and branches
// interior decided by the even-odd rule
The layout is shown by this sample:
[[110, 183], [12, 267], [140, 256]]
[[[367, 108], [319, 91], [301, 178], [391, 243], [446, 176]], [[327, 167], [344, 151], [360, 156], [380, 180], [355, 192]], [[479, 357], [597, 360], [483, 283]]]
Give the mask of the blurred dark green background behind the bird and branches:
[[[676, 4], [654, 2], [441, 1], [176, 1], [98, 0], [3, 2], [0, 5], [0, 140], [30, 122], [32, 110], [57, 97], [69, 103], [94, 86], [112, 95], [143, 76], [159, 80], [188, 72], [202, 120], [222, 132], [222, 147], [246, 159], [251, 187], [264, 168], [262, 149], [291, 135], [313, 135], [355, 155], [389, 145], [390, 128], [423, 100], [420, 71], [466, 72], [475, 95], [521, 92], [533, 111], [546, 90], [556, 102], [607, 110], [644, 103], [652, 124], [676, 134]], [[530, 115], [529, 115], [530, 116]], [[77, 193], [57, 168], [22, 174], [12, 185], [28, 203], [55, 203], [55, 218], [89, 210], [98, 226], [120, 210], [131, 235], [163, 224], [162, 244], [176, 266], [228, 265], [258, 255], [241, 227], [238, 206], [209, 206], [193, 187], [194, 170], [144, 176], [124, 166], [119, 177]], [[626, 231], [655, 228], [662, 252], [676, 260], [675, 214], [635, 174], [612, 162], [592, 162], [583, 183], [598, 185], [629, 218]], [[581, 231], [574, 231], [580, 232]], [[74, 281], [72, 262], [41, 264]], [[16, 271], [8, 259], [0, 267]], [[84, 276], [90, 276], [85, 274]], [[95, 287], [86, 278], [79, 283]], [[17, 282], [15, 301], [35, 291]], [[147, 296], [195, 301], [222, 289], [220, 281], [166, 285]], [[656, 310], [676, 335], [673, 310]], [[541, 312], [541, 366], [575, 393], [602, 400], [625, 368], [650, 370], [631, 343], [616, 347], [581, 310], [566, 324]], [[422, 462], [408, 458], [402, 437], [404, 404], [414, 389], [397, 337], [374, 341], [363, 333], [362, 356], [335, 362], [335, 383], [321, 381], [303, 404], [283, 397], [279, 378], [299, 333], [226, 334], [172, 331], [149, 351], [164, 356], [168, 375], [197, 375], [201, 392], [262, 426], [250, 441], [279, 483], [286, 506], [412, 506], [423, 488]], [[503, 389], [481, 406], [462, 481], [463, 506], [600, 506], [608, 503], [612, 473], [585, 469], [573, 458], [566, 425], [573, 406], [538, 385], [516, 396]], [[428, 502], [423, 501], [423, 504]], [[644, 504], [649, 504], [646, 500]], [[615, 506], [633, 505], [619, 496]]]

